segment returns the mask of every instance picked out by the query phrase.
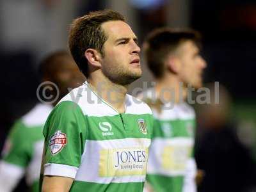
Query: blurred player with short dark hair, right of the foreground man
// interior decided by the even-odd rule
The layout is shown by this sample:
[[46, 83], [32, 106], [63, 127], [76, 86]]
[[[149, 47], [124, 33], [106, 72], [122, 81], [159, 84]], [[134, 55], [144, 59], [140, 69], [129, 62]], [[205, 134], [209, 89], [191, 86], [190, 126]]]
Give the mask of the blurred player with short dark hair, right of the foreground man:
[[185, 102], [188, 86], [202, 86], [206, 67], [196, 31], [160, 28], [143, 44], [156, 86], [143, 93], [155, 117], [145, 190], [196, 191], [193, 156], [195, 112]]

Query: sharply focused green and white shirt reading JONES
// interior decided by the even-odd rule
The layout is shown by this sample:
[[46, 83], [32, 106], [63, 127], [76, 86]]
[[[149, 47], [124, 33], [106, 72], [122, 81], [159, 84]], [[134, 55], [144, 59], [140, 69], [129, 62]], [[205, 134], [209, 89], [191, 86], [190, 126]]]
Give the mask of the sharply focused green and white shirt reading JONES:
[[118, 113], [84, 83], [45, 124], [44, 175], [74, 178], [76, 192], [143, 191], [153, 122], [147, 104], [126, 95]]

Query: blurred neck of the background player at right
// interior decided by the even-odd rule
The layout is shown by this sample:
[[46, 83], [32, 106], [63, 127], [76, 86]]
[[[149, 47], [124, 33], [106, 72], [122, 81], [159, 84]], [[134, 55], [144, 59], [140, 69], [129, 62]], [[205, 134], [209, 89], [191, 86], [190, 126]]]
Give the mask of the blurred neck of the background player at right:
[[180, 79], [173, 74], [166, 74], [156, 80], [156, 96], [163, 102], [179, 103], [187, 97], [187, 89]]

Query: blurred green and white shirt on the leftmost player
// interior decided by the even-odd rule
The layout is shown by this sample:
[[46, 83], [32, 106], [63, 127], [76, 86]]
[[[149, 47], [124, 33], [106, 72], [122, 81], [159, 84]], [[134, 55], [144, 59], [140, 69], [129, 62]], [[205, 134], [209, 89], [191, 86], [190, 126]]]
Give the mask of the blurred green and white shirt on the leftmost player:
[[12, 191], [25, 174], [31, 191], [39, 189], [44, 147], [42, 130], [52, 106], [37, 104], [13, 125], [0, 162], [0, 191]]

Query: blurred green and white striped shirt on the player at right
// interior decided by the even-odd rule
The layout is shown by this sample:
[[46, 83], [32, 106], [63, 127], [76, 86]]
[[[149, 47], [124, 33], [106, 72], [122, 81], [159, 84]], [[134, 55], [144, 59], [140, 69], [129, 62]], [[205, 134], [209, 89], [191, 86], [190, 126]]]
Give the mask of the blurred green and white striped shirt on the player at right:
[[152, 91], [145, 94], [155, 118], [147, 182], [157, 192], [196, 191], [195, 112], [186, 102], [172, 105], [153, 100]]

